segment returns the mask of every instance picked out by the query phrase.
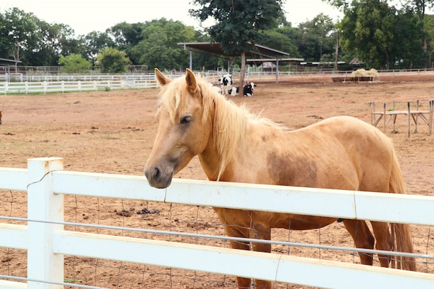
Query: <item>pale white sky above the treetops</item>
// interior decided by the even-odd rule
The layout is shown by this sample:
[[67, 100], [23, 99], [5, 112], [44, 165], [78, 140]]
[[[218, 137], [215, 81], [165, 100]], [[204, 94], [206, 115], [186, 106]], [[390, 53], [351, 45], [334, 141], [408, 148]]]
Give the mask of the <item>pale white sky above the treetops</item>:
[[[32, 12], [49, 24], [62, 23], [73, 28], [78, 35], [92, 31], [105, 31], [123, 21], [127, 23], [146, 22], [153, 19], [182, 21], [185, 25], [200, 29], [200, 22], [189, 16], [191, 0], [0, 0], [0, 10], [17, 7]], [[342, 14], [322, 0], [286, 0], [286, 20], [297, 26], [311, 20], [321, 12], [333, 21], [342, 19]], [[205, 26], [212, 22], [205, 22]]]

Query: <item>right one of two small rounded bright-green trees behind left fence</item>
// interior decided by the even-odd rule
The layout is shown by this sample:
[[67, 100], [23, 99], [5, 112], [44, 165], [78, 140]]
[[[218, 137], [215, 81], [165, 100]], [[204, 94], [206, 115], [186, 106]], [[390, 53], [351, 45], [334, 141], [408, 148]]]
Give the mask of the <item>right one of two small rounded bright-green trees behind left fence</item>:
[[128, 65], [131, 64], [125, 51], [119, 51], [112, 47], [105, 47], [96, 57], [97, 64], [101, 67], [101, 72], [121, 73], [128, 71]]

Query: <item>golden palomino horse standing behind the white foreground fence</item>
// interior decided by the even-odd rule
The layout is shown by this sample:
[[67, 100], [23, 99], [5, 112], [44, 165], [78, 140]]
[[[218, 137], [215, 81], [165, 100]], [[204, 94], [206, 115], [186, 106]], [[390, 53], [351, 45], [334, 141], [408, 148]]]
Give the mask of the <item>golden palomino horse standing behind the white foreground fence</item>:
[[[300, 130], [261, 119], [218, 94], [187, 69], [172, 80], [155, 69], [162, 87], [158, 130], [144, 173], [151, 186], [166, 188], [196, 155], [210, 180], [305, 186], [351, 191], [405, 193], [392, 142], [374, 126], [349, 116], [333, 117]], [[336, 218], [214, 208], [228, 236], [270, 240], [271, 228], [318, 229]], [[343, 220], [358, 248], [413, 252], [408, 225]], [[232, 242], [236, 249], [270, 252], [261, 243]], [[372, 254], [359, 254], [372, 265]], [[415, 259], [379, 255], [382, 267], [415, 270]], [[250, 279], [237, 277], [238, 288]], [[269, 281], [256, 281], [270, 288]]]

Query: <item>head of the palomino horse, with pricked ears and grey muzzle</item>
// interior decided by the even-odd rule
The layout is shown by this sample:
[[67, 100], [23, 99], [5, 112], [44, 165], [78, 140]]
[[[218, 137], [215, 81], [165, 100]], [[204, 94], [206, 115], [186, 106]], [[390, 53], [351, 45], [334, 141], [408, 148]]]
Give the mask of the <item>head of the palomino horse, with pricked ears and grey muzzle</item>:
[[164, 189], [171, 184], [173, 175], [205, 150], [211, 116], [209, 107], [203, 107], [202, 89], [191, 70], [186, 69], [185, 77], [175, 80], [158, 69], [155, 76], [162, 87], [158, 128], [144, 173], [151, 186]]

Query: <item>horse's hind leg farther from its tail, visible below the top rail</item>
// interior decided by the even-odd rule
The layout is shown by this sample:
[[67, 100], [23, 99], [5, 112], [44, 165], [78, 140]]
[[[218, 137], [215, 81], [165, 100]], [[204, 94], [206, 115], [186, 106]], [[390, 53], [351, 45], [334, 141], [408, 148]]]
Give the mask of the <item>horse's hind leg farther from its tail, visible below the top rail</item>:
[[[375, 239], [363, 220], [344, 220], [345, 229], [349, 232], [357, 248], [374, 249]], [[372, 265], [373, 256], [367, 253], [358, 253], [363, 265]]]

